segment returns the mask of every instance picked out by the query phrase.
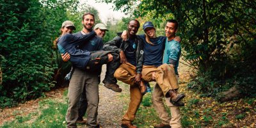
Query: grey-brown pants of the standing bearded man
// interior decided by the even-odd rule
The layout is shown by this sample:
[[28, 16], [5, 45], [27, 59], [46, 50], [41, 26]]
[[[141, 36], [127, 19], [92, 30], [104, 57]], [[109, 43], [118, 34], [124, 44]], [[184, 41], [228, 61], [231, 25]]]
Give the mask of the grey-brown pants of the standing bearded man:
[[79, 68], [74, 69], [68, 86], [68, 110], [66, 115], [67, 127], [76, 127], [78, 118], [78, 102], [83, 89], [88, 102], [88, 127], [97, 127], [99, 104], [99, 76]]

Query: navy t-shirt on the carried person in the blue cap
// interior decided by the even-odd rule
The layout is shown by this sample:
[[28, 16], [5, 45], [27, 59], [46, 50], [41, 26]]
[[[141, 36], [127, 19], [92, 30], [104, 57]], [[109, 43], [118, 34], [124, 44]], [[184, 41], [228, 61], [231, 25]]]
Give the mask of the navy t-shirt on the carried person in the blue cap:
[[157, 38], [150, 38], [152, 44], [146, 42], [145, 35], [139, 35], [143, 40], [143, 65], [154, 65], [159, 67], [163, 64], [163, 52], [164, 52], [164, 42], [166, 37], [158, 36]]

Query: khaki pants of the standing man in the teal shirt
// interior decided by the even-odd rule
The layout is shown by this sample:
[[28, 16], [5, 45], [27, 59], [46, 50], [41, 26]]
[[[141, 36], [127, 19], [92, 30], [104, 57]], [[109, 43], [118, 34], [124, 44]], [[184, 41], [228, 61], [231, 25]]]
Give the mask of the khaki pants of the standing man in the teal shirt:
[[[178, 76], [176, 77], [178, 79]], [[173, 106], [173, 104], [170, 102], [170, 98], [165, 98], [166, 104], [171, 111], [172, 118], [170, 118], [170, 116], [166, 112], [166, 109], [164, 108], [163, 98], [164, 94], [159, 85], [156, 84], [152, 93], [152, 103], [153, 107], [156, 109], [158, 113], [159, 118], [162, 120], [162, 123], [165, 125], [170, 124], [172, 128], [182, 127], [179, 107]]]

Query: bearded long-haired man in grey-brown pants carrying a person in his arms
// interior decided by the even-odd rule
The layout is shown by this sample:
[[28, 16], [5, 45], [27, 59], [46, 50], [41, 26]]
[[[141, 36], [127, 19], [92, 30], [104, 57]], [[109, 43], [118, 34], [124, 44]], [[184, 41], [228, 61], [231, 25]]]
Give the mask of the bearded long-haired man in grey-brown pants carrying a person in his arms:
[[[92, 13], [84, 13], [82, 23], [84, 26], [82, 31], [75, 33], [75, 36], [86, 35], [92, 31], [94, 15]], [[89, 42], [84, 42], [83, 45], [79, 45], [77, 48], [91, 51], [93, 53], [93, 51], [100, 51], [102, 46], [102, 38], [95, 36]], [[63, 60], [65, 60], [65, 58]], [[88, 108], [88, 127], [100, 126], [97, 124], [100, 81], [99, 74], [100, 68], [97, 72], [89, 72], [76, 67], [73, 68], [72, 77], [68, 86], [68, 110], [66, 115], [67, 127], [76, 127], [77, 118], [80, 114], [79, 108], [81, 108], [78, 102], [81, 96], [85, 97], [82, 104], [86, 105]], [[86, 109], [84, 111], [86, 111]]]

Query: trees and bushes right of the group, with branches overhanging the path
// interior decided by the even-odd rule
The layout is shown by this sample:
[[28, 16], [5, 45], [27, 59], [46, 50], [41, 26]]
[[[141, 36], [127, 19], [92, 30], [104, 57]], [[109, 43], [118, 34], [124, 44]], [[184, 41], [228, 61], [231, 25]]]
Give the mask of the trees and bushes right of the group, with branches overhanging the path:
[[185, 60], [198, 69], [198, 79], [207, 80], [194, 81], [201, 91], [216, 93], [236, 83], [247, 94], [255, 93], [256, 1], [102, 1], [142, 19], [157, 19], [154, 24], [164, 24], [166, 15], [173, 15], [179, 21]]

